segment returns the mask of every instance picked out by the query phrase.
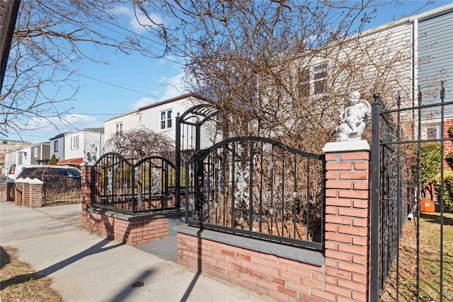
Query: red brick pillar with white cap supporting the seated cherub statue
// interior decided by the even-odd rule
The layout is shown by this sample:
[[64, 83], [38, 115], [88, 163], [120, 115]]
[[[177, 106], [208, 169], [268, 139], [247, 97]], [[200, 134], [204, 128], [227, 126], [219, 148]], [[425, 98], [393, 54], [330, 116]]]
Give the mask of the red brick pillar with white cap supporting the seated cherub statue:
[[326, 153], [326, 291], [369, 301], [369, 144], [339, 141]]

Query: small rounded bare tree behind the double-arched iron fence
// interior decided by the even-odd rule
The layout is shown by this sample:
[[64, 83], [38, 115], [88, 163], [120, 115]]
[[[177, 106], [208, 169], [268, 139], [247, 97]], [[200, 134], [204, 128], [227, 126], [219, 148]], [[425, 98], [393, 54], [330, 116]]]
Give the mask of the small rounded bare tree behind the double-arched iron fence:
[[150, 129], [132, 129], [127, 132], [117, 132], [105, 141], [107, 152], [117, 152], [128, 159], [162, 156], [174, 163], [175, 142], [165, 134], [153, 132]]

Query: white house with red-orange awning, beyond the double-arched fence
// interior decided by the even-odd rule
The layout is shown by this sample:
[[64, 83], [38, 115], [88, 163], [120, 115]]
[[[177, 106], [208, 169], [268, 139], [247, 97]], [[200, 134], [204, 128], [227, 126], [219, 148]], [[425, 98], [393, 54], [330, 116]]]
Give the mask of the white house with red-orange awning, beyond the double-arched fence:
[[61, 135], [50, 141], [55, 156], [59, 154], [58, 165], [79, 166], [83, 161], [96, 160], [103, 154], [103, 128], [86, 128]]

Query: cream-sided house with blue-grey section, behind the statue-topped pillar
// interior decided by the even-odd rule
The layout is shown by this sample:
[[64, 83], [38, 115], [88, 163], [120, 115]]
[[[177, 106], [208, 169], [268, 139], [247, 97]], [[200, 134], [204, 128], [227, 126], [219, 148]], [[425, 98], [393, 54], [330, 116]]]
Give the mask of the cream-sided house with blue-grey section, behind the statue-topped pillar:
[[[351, 87], [372, 95], [382, 92], [382, 79], [389, 88], [387, 99], [400, 93], [401, 100], [408, 102], [403, 107], [419, 105], [419, 88], [422, 105], [440, 103], [442, 82], [445, 102], [453, 101], [453, 4], [401, 18], [346, 41], [326, 45], [309, 64], [299, 62], [299, 97], [322, 102], [329, 88], [346, 94]], [[453, 106], [445, 106], [444, 114], [447, 121], [453, 118]], [[423, 110], [421, 120], [423, 139], [440, 137], [440, 110]]]

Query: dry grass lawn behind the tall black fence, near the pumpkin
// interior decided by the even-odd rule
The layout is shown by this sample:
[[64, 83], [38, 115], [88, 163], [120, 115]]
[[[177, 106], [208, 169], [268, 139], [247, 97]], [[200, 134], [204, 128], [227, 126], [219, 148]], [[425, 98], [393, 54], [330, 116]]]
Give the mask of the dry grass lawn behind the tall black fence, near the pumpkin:
[[[440, 214], [420, 214], [419, 291], [417, 293], [416, 225], [407, 221], [399, 250], [398, 301], [440, 301]], [[443, 301], [453, 301], [453, 214], [443, 221]], [[396, 261], [395, 261], [396, 262]], [[392, 267], [382, 301], [396, 301], [396, 263]]]

